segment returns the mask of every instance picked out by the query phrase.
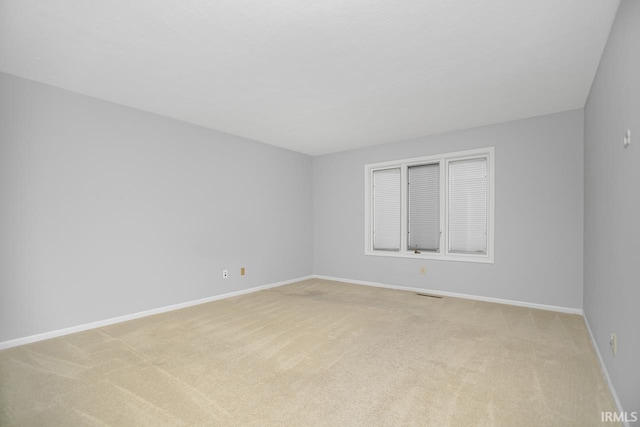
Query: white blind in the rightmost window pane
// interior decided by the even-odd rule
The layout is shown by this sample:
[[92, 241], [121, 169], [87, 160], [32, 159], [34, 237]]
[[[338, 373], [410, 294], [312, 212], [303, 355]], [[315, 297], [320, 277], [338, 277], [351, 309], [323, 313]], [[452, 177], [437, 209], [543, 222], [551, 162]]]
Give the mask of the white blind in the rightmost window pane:
[[487, 253], [487, 159], [449, 162], [449, 252]]

